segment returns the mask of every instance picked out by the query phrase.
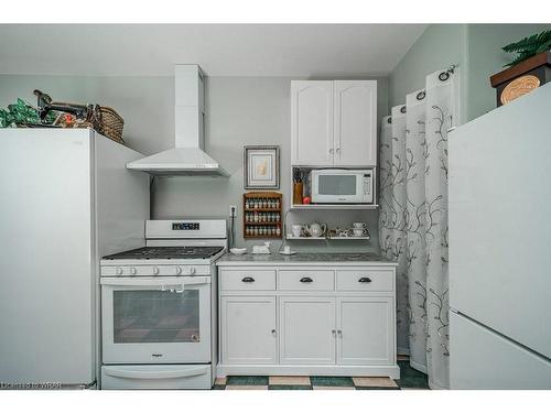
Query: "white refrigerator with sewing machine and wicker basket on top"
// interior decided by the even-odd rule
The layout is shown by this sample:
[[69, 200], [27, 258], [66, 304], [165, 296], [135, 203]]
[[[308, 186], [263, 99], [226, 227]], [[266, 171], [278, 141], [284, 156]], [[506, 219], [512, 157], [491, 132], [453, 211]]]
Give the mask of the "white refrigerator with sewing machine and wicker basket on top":
[[88, 129], [0, 130], [0, 388], [94, 388], [99, 259], [144, 244], [142, 154]]

